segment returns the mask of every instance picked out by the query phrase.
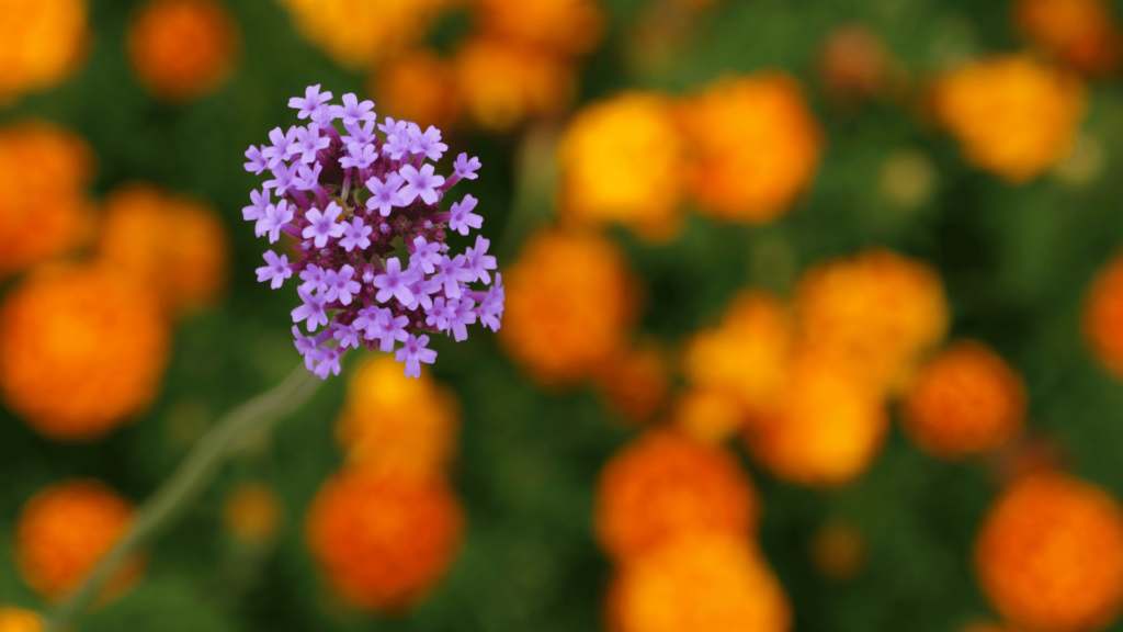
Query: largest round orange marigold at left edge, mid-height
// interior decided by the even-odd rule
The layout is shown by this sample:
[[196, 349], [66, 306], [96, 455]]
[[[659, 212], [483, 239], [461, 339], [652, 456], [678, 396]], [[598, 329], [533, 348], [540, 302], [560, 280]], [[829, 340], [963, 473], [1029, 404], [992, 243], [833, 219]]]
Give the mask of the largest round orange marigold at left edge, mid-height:
[[0, 394], [45, 436], [95, 440], [156, 396], [170, 337], [156, 297], [131, 277], [39, 270], [0, 307]]

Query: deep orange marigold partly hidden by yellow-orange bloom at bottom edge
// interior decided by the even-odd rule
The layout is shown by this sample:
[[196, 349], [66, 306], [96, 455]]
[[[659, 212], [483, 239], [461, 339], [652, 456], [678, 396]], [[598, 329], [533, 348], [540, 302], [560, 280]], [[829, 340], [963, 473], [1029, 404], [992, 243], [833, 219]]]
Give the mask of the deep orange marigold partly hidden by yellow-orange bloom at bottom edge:
[[756, 491], [731, 454], [657, 431], [604, 466], [594, 520], [601, 547], [628, 560], [683, 534], [747, 536], [759, 513]]

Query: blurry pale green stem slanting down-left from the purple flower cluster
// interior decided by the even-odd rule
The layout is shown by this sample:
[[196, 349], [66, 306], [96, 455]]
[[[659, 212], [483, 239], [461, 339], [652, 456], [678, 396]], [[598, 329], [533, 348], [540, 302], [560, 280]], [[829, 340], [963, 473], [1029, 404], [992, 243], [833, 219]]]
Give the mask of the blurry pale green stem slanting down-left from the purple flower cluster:
[[246, 401], [220, 419], [140, 507], [125, 536], [58, 605], [48, 622], [47, 632], [56, 632], [83, 611], [117, 567], [154, 533], [171, 524], [226, 460], [245, 446], [247, 437], [264, 432], [277, 419], [293, 413], [321, 383], [322, 380], [301, 363], [272, 390]]

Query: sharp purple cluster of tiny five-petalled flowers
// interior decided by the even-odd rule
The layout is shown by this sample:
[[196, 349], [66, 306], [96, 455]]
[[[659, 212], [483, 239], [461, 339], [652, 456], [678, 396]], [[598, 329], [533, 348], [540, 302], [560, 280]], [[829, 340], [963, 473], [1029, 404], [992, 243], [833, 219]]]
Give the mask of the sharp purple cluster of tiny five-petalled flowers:
[[[309, 124], [277, 127], [271, 146], [246, 151], [246, 171], [273, 177], [249, 195], [243, 216], [255, 223], [258, 237], [274, 243], [285, 233], [299, 241], [300, 252], [293, 262], [266, 252], [257, 280], [276, 289], [299, 276], [302, 305], [292, 310], [292, 331], [305, 365], [320, 378], [338, 376], [340, 356], [359, 346], [387, 353], [396, 347], [405, 374], [419, 377], [421, 363], [437, 358], [427, 349], [428, 334], [459, 342], [468, 325], [499, 331], [503, 317], [503, 283], [497, 272], [492, 283], [489, 241], [477, 235], [456, 255], [445, 244], [447, 229], [468, 235], [483, 225], [471, 195], [448, 211], [440, 208], [454, 184], [477, 178], [480, 161], [460, 154], [448, 178], [438, 175], [426, 161], [439, 161], [448, 150], [439, 129], [422, 132], [392, 118], [376, 125], [374, 103], [355, 94], [344, 94], [341, 106], [330, 101], [331, 92], [309, 87], [303, 98], [289, 101]], [[404, 252], [394, 256], [400, 244], [409, 253], [404, 263]], [[477, 281], [485, 287], [473, 288]]]

